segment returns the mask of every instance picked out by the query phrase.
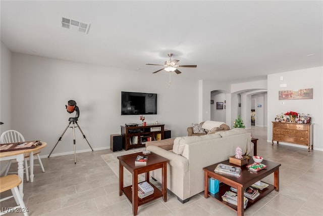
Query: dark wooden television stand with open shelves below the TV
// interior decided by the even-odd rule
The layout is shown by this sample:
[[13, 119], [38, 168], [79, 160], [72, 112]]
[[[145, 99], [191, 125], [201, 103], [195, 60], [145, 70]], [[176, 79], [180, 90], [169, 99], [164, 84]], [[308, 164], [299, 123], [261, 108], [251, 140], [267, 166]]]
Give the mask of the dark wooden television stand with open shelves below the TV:
[[149, 141], [164, 140], [164, 126], [165, 124], [121, 125], [122, 143], [125, 150], [144, 147]]

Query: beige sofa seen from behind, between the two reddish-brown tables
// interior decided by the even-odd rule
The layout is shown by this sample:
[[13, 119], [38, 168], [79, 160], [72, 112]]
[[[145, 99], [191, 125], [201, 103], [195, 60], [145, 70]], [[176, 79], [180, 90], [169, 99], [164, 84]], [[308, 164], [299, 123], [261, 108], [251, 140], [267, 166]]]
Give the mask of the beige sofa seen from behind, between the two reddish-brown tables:
[[[169, 159], [167, 165], [167, 188], [182, 203], [204, 191], [202, 168], [229, 159], [238, 146], [253, 155], [251, 134], [244, 128], [235, 128], [216, 134], [179, 137], [146, 143], [146, 149]], [[150, 172], [161, 182], [161, 169]]]

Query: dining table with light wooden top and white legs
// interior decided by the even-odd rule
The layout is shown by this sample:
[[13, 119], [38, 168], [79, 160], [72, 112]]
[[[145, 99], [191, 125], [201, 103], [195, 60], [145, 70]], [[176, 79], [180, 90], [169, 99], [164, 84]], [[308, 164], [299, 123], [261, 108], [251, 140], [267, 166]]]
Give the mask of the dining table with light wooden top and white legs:
[[[0, 152], [0, 161], [4, 160], [14, 160], [18, 162], [18, 176], [21, 178], [22, 182], [19, 185], [19, 191], [21, 196], [24, 197], [23, 188], [24, 188], [24, 158], [25, 154], [29, 154], [29, 163], [30, 163], [30, 181], [34, 181], [34, 155], [33, 152], [39, 151], [46, 147], [47, 143], [40, 141], [41, 145], [37, 145], [35, 148], [31, 149], [22, 149], [22, 150], [12, 150]], [[28, 167], [26, 167], [28, 168]]]

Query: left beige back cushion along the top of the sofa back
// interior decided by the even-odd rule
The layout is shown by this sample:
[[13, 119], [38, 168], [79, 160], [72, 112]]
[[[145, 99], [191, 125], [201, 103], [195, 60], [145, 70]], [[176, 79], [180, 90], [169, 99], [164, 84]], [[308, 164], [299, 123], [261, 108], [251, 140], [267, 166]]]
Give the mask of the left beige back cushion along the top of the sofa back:
[[175, 154], [182, 155], [185, 145], [216, 138], [221, 138], [221, 136], [218, 134], [210, 134], [207, 136], [177, 137], [174, 140], [173, 152]]

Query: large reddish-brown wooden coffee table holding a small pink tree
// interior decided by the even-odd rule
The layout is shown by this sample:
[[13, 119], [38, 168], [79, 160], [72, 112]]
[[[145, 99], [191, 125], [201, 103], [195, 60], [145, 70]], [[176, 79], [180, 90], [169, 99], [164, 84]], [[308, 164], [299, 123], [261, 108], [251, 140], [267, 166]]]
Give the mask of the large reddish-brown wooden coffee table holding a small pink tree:
[[[230, 164], [237, 166], [235, 164], [229, 163], [229, 160], [222, 161], [220, 163], [224, 164]], [[249, 159], [248, 164], [253, 163], [252, 158]], [[244, 208], [243, 208], [243, 191], [244, 189], [248, 188], [255, 182], [265, 178], [266, 176], [272, 174], [274, 172], [274, 185], [268, 184], [269, 186], [263, 190], [259, 190], [260, 195], [254, 199], [254, 200], [248, 200], [247, 207], [250, 207], [254, 203], [256, 203], [259, 199], [262, 197], [266, 196], [268, 193], [272, 192], [274, 189], [276, 191], [279, 191], [279, 167], [281, 166], [280, 163], [272, 162], [272, 161], [267, 161], [267, 160], [262, 160], [263, 164], [267, 165], [265, 169], [259, 170], [257, 172], [251, 172], [248, 170], [246, 165], [241, 166], [242, 171], [241, 171], [241, 176], [240, 177], [234, 177], [234, 176], [229, 176], [225, 174], [217, 174], [214, 172], [214, 169], [217, 167], [219, 163], [204, 167], [204, 197], [212, 197], [216, 200], [218, 200], [221, 203], [226, 204], [227, 206], [233, 208], [234, 210], [237, 211], [237, 215], [243, 215], [244, 213]], [[224, 184], [220, 184], [220, 189], [219, 192], [216, 194], [211, 194], [208, 192], [208, 179], [209, 178], [214, 178], [218, 179], [220, 182]], [[230, 186], [237, 188], [238, 190], [238, 206], [227, 203], [222, 200], [222, 195], [225, 194], [226, 191], [230, 191]]]

